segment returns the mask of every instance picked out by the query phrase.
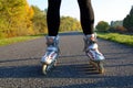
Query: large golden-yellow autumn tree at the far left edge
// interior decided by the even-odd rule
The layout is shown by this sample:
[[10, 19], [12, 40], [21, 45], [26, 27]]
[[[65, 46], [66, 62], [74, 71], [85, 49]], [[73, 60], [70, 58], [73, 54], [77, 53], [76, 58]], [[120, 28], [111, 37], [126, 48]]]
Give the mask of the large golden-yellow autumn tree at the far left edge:
[[0, 37], [28, 35], [29, 10], [27, 0], [0, 0]]

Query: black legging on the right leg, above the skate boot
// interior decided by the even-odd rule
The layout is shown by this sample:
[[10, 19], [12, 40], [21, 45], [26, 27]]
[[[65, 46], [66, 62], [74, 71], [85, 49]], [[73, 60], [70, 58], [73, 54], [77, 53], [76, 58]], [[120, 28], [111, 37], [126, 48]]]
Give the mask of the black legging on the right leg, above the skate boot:
[[80, 18], [83, 33], [93, 34], [94, 12], [91, 0], [78, 0], [80, 7]]

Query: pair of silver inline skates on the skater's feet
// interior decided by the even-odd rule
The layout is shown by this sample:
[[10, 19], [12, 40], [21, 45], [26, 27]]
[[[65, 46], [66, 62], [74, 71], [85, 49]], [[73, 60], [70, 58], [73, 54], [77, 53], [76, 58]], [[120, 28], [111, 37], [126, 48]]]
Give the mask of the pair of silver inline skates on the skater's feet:
[[[89, 56], [90, 65], [98, 70], [98, 73], [103, 74], [103, 61], [104, 56], [99, 52], [96, 44], [96, 35], [85, 35], [84, 40], [84, 52], [86, 56]], [[42, 63], [42, 73], [47, 75], [55, 65], [59, 58], [59, 36], [47, 36], [47, 52], [44, 56], [41, 58]]]

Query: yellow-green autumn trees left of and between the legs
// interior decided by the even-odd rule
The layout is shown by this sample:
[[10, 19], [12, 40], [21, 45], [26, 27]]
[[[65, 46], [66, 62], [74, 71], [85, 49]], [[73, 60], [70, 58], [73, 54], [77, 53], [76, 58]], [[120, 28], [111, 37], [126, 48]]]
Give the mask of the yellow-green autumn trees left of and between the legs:
[[[48, 33], [47, 11], [30, 7], [27, 0], [0, 0], [0, 38]], [[61, 18], [60, 32], [79, 30], [76, 19]]]

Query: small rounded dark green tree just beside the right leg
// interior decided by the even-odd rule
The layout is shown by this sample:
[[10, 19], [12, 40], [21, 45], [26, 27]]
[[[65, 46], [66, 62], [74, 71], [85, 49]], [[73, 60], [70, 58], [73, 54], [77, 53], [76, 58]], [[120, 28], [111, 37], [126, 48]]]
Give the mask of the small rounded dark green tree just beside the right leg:
[[100, 21], [95, 28], [98, 31], [106, 32], [109, 30], [110, 25], [108, 22]]

